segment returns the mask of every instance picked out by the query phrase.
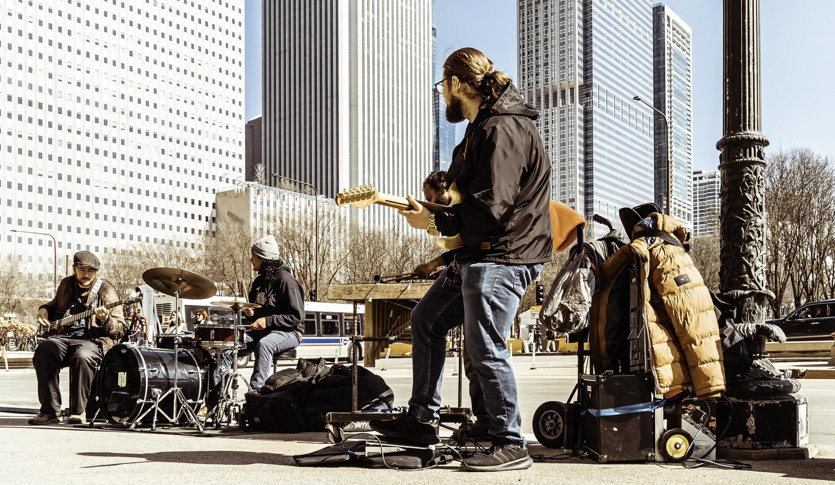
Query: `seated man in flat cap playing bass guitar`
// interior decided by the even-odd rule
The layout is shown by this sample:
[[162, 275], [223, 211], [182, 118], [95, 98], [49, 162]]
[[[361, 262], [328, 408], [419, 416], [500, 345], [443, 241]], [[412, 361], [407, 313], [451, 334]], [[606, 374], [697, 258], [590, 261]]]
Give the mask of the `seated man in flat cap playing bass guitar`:
[[108, 310], [106, 305], [119, 301], [119, 292], [108, 280], [99, 276], [99, 258], [89, 251], [78, 251], [73, 256], [73, 275], [58, 285], [55, 297], [38, 309], [38, 325], [65, 316], [95, 309], [72, 326], [63, 327], [58, 335], [50, 336], [35, 349], [33, 364], [38, 377], [38, 416], [29, 424], [61, 422], [61, 392], [58, 373], [69, 367], [68, 424], [84, 421], [84, 409], [93, 385], [96, 369], [110, 346], [124, 336], [124, 314], [121, 306]]

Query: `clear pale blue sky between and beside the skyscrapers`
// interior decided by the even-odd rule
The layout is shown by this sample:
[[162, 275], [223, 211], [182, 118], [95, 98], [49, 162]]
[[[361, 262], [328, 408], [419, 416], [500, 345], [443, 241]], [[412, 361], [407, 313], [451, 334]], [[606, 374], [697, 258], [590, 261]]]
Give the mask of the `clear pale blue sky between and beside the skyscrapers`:
[[[722, 3], [666, 4], [693, 29], [693, 168], [714, 170], [722, 131]], [[437, 0], [436, 9], [438, 65], [445, 53], [472, 46], [516, 78], [514, 0]], [[835, 155], [829, 121], [835, 114], [835, 2], [762, 0], [761, 13], [762, 131], [771, 140], [770, 149], [802, 145]], [[247, 119], [261, 113], [260, 34], [261, 0], [246, 0]]]

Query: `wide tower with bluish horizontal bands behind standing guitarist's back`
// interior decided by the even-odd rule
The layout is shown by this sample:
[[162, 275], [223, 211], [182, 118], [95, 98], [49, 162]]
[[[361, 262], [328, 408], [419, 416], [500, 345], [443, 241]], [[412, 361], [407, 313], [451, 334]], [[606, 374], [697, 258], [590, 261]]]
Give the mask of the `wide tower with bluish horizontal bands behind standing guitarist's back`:
[[648, 0], [518, 3], [519, 88], [540, 110], [553, 197], [590, 217], [654, 200]]

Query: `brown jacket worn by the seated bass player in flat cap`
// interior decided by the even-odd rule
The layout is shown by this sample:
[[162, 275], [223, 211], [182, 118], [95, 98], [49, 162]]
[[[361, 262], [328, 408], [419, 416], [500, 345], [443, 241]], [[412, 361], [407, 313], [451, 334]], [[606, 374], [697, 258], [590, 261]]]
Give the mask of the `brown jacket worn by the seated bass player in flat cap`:
[[[117, 291], [108, 280], [105, 280], [104, 278], [99, 278], [99, 280], [102, 280], [102, 285], [99, 287], [98, 294], [88, 297], [88, 306], [86, 308], [81, 308], [80, 306], [78, 308], [74, 308], [73, 315], [121, 300], [121, 297], [119, 297], [119, 291]], [[67, 276], [61, 280], [52, 301], [40, 306], [40, 308], [45, 308], [49, 312], [49, 321], [56, 321], [63, 318], [65, 316], [64, 314], [72, 308], [73, 286], [75, 284], [75, 275]], [[93, 285], [95, 284], [96, 282], [94, 281]], [[121, 306], [116, 306], [110, 309], [110, 316], [107, 321], [99, 321], [96, 316], [90, 316], [88, 321], [92, 322], [87, 330], [89, 340], [99, 342], [99, 344], [104, 346], [105, 351], [109, 349], [110, 346], [119, 343], [124, 336], [124, 312], [122, 311]]]

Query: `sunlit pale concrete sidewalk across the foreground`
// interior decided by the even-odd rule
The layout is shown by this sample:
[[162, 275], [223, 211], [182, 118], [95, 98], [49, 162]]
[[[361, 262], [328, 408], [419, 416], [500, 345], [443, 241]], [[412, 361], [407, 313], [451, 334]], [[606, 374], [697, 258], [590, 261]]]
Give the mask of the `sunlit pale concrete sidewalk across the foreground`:
[[[446, 433], [448, 435], [448, 432]], [[138, 432], [55, 425], [30, 427], [0, 414], [0, 483], [827, 483], [835, 447], [812, 460], [754, 462], [751, 470], [647, 463], [599, 464], [529, 447], [534, 467], [517, 472], [461, 472], [458, 463], [421, 472], [363, 467], [297, 467], [294, 454], [326, 447], [324, 433]]]

